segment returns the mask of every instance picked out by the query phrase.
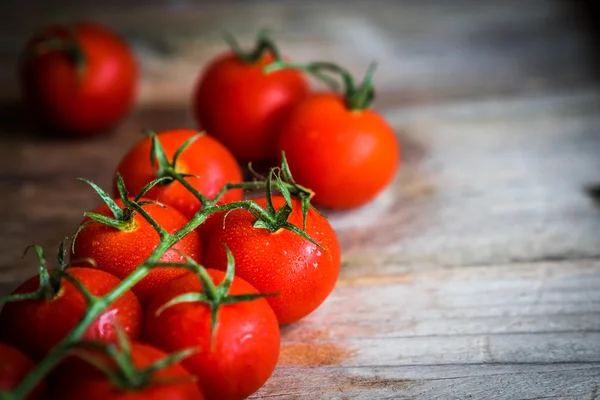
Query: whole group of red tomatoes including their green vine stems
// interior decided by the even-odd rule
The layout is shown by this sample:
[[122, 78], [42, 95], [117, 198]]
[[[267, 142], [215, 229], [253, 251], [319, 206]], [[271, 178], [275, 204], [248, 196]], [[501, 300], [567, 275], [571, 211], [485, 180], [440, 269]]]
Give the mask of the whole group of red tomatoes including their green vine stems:
[[[264, 35], [251, 52], [230, 44], [194, 88], [207, 133], [150, 132], [111, 193], [86, 181], [104, 204], [85, 213], [69, 262], [64, 242], [54, 269], [36, 247], [39, 276], [0, 311], [0, 398], [243, 399], [275, 369], [279, 326], [333, 290], [339, 243], [311, 200], [364, 204], [399, 158], [368, 108], [372, 70], [355, 85], [334, 64], [284, 60]], [[44, 30], [21, 65], [24, 99], [48, 129], [105, 131], [135, 98], [135, 58], [98, 24]], [[343, 93], [311, 92], [306, 76], [335, 86], [328, 74]], [[243, 180], [239, 162], [277, 159]], [[245, 200], [245, 189], [263, 191]]]

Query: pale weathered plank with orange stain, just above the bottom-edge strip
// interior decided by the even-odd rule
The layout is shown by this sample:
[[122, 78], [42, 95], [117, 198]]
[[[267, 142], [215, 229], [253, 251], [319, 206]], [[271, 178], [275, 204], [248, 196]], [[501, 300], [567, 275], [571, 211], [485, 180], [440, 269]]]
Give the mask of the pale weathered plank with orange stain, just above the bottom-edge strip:
[[281, 363], [600, 362], [600, 262], [379, 278], [345, 286], [343, 274], [317, 312], [283, 328]]

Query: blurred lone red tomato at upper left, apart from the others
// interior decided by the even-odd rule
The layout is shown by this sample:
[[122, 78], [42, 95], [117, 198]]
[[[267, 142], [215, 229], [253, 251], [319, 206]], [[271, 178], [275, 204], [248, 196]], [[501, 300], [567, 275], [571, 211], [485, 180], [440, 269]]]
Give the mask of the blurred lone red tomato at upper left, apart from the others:
[[116, 33], [80, 22], [36, 34], [23, 51], [20, 78], [25, 103], [42, 124], [89, 135], [112, 128], [131, 109], [138, 67]]

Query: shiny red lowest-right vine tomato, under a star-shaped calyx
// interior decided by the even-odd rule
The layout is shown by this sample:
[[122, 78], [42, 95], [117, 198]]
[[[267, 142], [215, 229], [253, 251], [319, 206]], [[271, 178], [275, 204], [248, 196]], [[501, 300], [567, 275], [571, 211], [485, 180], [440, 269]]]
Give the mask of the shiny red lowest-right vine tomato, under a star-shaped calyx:
[[[225, 276], [221, 271], [208, 273], [215, 284]], [[166, 351], [199, 346], [200, 352], [183, 360], [183, 365], [197, 375], [206, 398], [244, 399], [275, 369], [280, 346], [277, 318], [264, 298], [222, 305], [211, 342], [211, 310], [205, 303], [179, 303], [156, 315], [157, 309], [172, 298], [201, 291], [200, 281], [192, 273], [160, 288], [146, 311], [145, 339]], [[235, 277], [229, 294], [247, 293], [257, 292]]]

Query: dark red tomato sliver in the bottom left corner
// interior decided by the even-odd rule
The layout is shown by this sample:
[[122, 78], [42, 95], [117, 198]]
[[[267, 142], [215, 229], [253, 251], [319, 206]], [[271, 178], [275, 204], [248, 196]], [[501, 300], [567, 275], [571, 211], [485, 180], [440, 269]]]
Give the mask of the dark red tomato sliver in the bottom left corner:
[[[12, 346], [0, 343], [0, 392], [14, 388], [34, 367], [33, 361]], [[39, 384], [26, 400], [41, 399], [46, 384]]]

